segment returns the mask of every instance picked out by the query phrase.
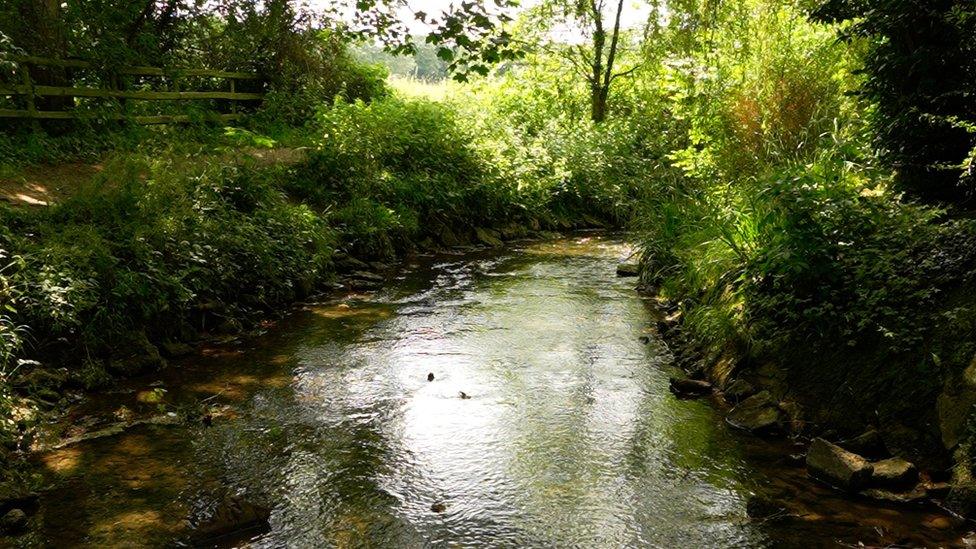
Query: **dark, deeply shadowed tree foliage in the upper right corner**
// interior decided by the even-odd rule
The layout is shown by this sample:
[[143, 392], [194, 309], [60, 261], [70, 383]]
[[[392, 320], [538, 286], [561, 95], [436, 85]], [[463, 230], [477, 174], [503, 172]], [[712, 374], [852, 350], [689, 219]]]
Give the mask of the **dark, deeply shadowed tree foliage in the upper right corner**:
[[863, 95], [885, 160], [923, 199], [966, 202], [976, 192], [976, 4], [972, 0], [827, 0], [821, 21], [853, 21], [868, 43]]

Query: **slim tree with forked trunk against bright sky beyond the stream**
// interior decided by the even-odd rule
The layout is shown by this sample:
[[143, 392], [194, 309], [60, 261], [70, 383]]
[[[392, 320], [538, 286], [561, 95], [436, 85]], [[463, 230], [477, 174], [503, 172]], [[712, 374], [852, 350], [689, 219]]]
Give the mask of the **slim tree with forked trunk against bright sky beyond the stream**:
[[[548, 0], [529, 14], [538, 46], [568, 60], [585, 79], [590, 118], [597, 124], [607, 118], [613, 83], [639, 68], [619, 70], [626, 41], [623, 14], [624, 0]], [[560, 30], [567, 35], [558, 36]]]

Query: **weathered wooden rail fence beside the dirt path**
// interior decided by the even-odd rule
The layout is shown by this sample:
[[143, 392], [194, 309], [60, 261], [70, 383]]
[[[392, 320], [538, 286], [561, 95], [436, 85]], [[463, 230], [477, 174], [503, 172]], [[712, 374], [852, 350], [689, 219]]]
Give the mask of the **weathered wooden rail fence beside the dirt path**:
[[[123, 101], [193, 101], [193, 100], [212, 100], [220, 99], [231, 102], [231, 112], [220, 114], [220, 118], [225, 121], [237, 120], [241, 117], [238, 113], [238, 103], [243, 101], [260, 101], [264, 95], [261, 93], [238, 92], [237, 81], [258, 80], [256, 74], [244, 72], [228, 72], [208, 69], [162, 69], [158, 67], [120, 67], [112, 69], [109, 81], [110, 88], [86, 88], [73, 86], [48, 86], [37, 85], [31, 79], [30, 67], [54, 67], [66, 70], [98, 70], [99, 68], [92, 63], [80, 60], [61, 60], [47, 59], [34, 56], [11, 56], [11, 61], [18, 64], [17, 74], [21, 77], [21, 83], [17, 85], [4, 85], [0, 83], [0, 96], [23, 97], [26, 102], [26, 109], [3, 109], [0, 108], [0, 118], [28, 118], [32, 120], [70, 120], [86, 118], [91, 116], [89, 113], [75, 110], [38, 110], [36, 98], [38, 97], [81, 97], [81, 98], [106, 98], [121, 99]], [[125, 89], [123, 77], [163, 77], [169, 80], [171, 90], [128, 90]], [[181, 81], [186, 78], [218, 78], [228, 81], [227, 91], [183, 91], [180, 89]], [[185, 114], [176, 115], [153, 115], [153, 116], [127, 116], [124, 113], [111, 113], [104, 115], [99, 113], [100, 118], [132, 120], [137, 124], [168, 124], [189, 121], [189, 116]]]

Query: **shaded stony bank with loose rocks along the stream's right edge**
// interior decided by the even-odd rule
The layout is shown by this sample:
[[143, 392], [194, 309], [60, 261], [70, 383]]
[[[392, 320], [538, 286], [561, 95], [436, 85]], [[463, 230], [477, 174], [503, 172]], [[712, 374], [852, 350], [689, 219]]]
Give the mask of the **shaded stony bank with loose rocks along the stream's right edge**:
[[[655, 295], [647, 286], [642, 291]], [[888, 410], [878, 412], [885, 403], [875, 393], [852, 394], [847, 405], [838, 406], [822, 387], [811, 388], [809, 381], [797, 378], [783, 363], [751, 360], [731, 345], [714, 352], [696, 339], [695, 328], [687, 325], [679, 303], [660, 296], [655, 301], [657, 333], [668, 342], [687, 376], [672, 380], [676, 396], [714, 395], [730, 428], [766, 440], [788, 439], [792, 446], [784, 450], [789, 452], [784, 460], [849, 497], [880, 505], [928, 502], [954, 513], [958, 527], [968, 523], [976, 500], [968, 472], [969, 444], [960, 429], [969, 421], [967, 410], [973, 401], [965, 376], [976, 368], [976, 359], [962, 383], [947, 383], [935, 398], [908, 401], [905, 404], [910, 410], [902, 408], [906, 415], [892, 425], [886, 417]], [[871, 369], [871, 362], [865, 362], [870, 360], [877, 358], [859, 356], [852, 364], [828, 354], [804, 364], [813, 369], [807, 372], [808, 379], [816, 378], [819, 384], [831, 370], [845, 365], [848, 371], [855, 364]], [[874, 369], [881, 367], [878, 364]], [[886, 363], [884, 367], [899, 366]], [[855, 370], [854, 374], [862, 372]], [[908, 391], [917, 388], [884, 398], [905, 399]], [[873, 421], [865, 420], [863, 410], [855, 408], [873, 410]], [[931, 423], [919, 424], [919, 417]], [[931, 437], [941, 437], [944, 446], [918, 443]]]

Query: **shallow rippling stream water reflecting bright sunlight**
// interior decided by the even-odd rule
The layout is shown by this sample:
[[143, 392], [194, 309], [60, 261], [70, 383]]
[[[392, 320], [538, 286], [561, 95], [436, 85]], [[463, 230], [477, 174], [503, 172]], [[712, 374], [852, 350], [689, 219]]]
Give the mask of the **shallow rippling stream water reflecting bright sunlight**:
[[[417, 258], [387, 289], [96, 395], [74, 427], [199, 409], [38, 458], [25, 545], [173, 546], [228, 497], [251, 547], [833, 547], [952, 544], [928, 507], [848, 500], [678, 401], [651, 303], [596, 235]], [[649, 336], [642, 340], [642, 336]], [[428, 374], [434, 375], [428, 381]], [[464, 392], [468, 398], [462, 398]], [[795, 450], [794, 450], [795, 451]], [[792, 515], [756, 521], [753, 495]]]

